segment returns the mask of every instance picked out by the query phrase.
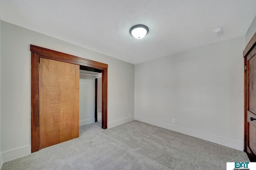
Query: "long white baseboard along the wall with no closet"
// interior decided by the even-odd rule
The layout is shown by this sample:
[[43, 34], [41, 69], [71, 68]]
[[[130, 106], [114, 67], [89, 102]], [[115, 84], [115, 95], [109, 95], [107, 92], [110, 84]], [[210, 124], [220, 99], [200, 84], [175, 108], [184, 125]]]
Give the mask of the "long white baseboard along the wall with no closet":
[[210, 142], [214, 142], [214, 143], [217, 143], [217, 144], [228, 146], [230, 148], [234, 148], [234, 149], [237, 149], [237, 150], [244, 150], [244, 142], [243, 141], [224, 138], [222, 136], [216, 136], [216, 135], [213, 135], [213, 134], [208, 134], [208, 133], [205, 133], [205, 132], [200, 132], [200, 131], [189, 129], [189, 128], [179, 127], [179, 126], [176, 126], [176, 125], [172, 125], [172, 124], [164, 123], [164, 122], [160, 122], [160, 121], [155, 121], [155, 120], [144, 118], [144, 117], [135, 116], [134, 119], [137, 120], [137, 121], [141, 121], [141, 122], [148, 123], [148, 124], [151, 124], [151, 125], [155, 125], [155, 126], [158, 126], [158, 127], [162, 127], [162, 128], [166, 128], [166, 129], [173, 130], [173, 131], [176, 131], [176, 132], [180, 132], [180, 133], [183, 133], [183, 134], [187, 134], [189, 136], [194, 136], [196, 138], [200, 138], [200, 139], [203, 139], [203, 140], [207, 140], [207, 141], [210, 141]]

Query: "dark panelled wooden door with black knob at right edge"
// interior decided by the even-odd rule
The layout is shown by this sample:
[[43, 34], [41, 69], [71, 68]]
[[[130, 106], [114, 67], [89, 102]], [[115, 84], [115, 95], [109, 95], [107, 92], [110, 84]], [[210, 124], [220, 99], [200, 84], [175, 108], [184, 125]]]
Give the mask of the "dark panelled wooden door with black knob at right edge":
[[[246, 153], [256, 161], [256, 46], [246, 56]], [[246, 68], [247, 67], [247, 68]]]

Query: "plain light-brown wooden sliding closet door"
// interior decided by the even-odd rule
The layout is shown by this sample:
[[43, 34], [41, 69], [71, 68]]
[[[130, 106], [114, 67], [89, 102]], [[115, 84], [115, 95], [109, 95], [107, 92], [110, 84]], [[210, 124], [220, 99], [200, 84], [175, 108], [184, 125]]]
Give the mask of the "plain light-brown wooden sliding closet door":
[[40, 58], [39, 148], [79, 136], [79, 65]]

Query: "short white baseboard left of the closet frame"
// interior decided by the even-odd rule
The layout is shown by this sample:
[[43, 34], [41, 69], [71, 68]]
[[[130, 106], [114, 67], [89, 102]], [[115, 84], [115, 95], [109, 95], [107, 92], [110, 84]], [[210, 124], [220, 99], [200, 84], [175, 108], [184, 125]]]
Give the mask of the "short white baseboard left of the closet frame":
[[14, 150], [9, 150], [7, 152], [3, 152], [3, 162], [7, 162], [9, 160], [13, 160], [16, 158], [20, 158], [22, 156], [26, 156], [31, 154], [31, 145], [27, 145], [21, 148], [17, 148]]

